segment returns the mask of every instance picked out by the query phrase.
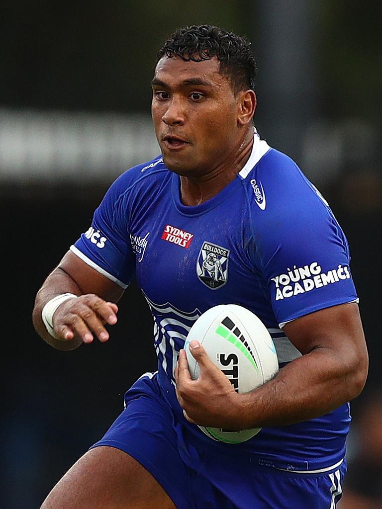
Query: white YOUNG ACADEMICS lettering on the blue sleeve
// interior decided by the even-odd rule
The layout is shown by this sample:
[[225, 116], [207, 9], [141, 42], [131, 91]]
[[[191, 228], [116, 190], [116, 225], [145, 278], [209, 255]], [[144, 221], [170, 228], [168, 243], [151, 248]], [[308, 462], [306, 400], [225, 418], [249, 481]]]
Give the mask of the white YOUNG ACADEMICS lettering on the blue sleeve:
[[304, 267], [293, 266], [293, 270], [287, 269], [285, 274], [271, 277], [276, 286], [276, 299], [288, 299], [300, 293], [310, 292], [314, 288], [322, 288], [333, 285], [341, 280], [350, 279], [350, 269], [347, 265], [339, 265], [328, 272], [321, 272], [318, 262], [313, 262]]

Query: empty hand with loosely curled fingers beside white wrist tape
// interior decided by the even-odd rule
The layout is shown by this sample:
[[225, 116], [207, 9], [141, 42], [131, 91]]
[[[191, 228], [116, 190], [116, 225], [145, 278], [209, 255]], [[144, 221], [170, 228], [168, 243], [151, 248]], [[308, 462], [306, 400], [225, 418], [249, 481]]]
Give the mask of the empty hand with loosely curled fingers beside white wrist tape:
[[73, 297], [63, 302], [54, 312], [54, 332], [63, 341], [78, 337], [84, 343], [92, 343], [96, 335], [104, 343], [110, 337], [104, 325], [117, 323], [117, 312], [117, 304], [106, 302], [97, 295]]

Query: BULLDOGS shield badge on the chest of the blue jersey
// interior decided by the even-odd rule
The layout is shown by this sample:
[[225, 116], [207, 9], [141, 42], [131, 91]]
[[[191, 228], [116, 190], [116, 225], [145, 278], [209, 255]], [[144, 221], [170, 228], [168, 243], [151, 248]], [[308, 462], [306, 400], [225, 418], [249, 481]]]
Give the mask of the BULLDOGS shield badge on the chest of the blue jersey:
[[217, 290], [228, 279], [229, 249], [211, 242], [203, 242], [196, 264], [196, 273], [204, 285]]

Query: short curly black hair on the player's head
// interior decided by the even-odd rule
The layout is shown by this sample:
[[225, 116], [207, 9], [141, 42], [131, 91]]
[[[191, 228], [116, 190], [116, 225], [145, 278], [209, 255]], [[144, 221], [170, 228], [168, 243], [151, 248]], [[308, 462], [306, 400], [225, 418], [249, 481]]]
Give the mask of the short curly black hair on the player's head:
[[188, 62], [202, 62], [213, 56], [220, 61], [220, 73], [231, 83], [233, 92], [255, 90], [256, 61], [245, 37], [219, 26], [192, 25], [176, 30], [157, 53], [156, 64], [167, 56]]

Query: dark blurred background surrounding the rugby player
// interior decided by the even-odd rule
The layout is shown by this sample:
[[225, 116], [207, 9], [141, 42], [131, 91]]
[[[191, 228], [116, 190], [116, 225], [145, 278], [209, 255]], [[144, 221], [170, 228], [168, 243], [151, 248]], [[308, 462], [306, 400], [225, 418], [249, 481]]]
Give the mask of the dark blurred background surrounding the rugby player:
[[297, 161], [348, 237], [371, 362], [352, 404], [340, 507], [382, 507], [380, 19], [376, 1], [3, 0], [1, 507], [39, 507], [119, 414], [129, 385], [155, 370], [151, 318], [134, 284], [104, 345], [55, 351], [34, 332], [31, 312], [43, 279], [88, 229], [108, 185], [159, 152], [149, 114], [156, 51], [193, 23], [252, 41], [258, 131]]

